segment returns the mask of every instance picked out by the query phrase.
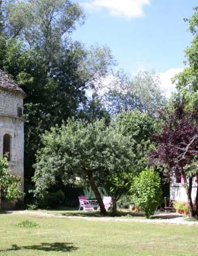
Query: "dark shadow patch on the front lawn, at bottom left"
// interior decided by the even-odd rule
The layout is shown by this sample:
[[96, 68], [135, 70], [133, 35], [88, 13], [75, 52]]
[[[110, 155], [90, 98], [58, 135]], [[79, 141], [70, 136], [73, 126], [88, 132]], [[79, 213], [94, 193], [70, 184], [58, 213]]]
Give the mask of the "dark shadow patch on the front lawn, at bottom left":
[[78, 247], [72, 245], [73, 243], [40, 243], [40, 245], [26, 245], [26, 246], [17, 246], [12, 245], [7, 251], [16, 251], [16, 250], [38, 250], [45, 252], [71, 252], [77, 250]]

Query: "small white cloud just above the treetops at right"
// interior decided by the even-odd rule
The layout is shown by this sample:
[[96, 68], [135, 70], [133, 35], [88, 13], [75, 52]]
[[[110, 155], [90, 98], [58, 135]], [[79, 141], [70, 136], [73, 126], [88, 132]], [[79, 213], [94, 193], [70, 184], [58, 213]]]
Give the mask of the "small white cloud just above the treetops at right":
[[171, 78], [181, 71], [183, 71], [183, 68], [168, 69], [165, 72], [158, 73], [162, 82], [161, 87], [167, 98], [171, 96], [171, 93], [176, 91], [175, 84], [172, 84]]

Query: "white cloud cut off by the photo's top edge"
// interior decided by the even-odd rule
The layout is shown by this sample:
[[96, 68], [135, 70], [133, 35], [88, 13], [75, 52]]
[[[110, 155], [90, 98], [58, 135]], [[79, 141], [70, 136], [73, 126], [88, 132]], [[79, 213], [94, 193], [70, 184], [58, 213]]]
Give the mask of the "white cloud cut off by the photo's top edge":
[[111, 15], [132, 19], [144, 17], [145, 4], [150, 4], [150, 0], [92, 0], [83, 5], [91, 10], [108, 9]]

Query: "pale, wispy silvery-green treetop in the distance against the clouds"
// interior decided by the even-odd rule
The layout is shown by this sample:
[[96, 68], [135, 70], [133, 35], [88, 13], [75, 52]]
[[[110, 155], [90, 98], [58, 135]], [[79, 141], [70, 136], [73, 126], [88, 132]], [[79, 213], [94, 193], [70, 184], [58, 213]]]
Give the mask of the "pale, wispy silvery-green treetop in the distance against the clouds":
[[159, 116], [166, 102], [160, 88], [160, 80], [154, 71], [139, 72], [133, 80], [119, 71], [106, 92], [106, 102], [113, 113], [139, 110], [149, 116]]

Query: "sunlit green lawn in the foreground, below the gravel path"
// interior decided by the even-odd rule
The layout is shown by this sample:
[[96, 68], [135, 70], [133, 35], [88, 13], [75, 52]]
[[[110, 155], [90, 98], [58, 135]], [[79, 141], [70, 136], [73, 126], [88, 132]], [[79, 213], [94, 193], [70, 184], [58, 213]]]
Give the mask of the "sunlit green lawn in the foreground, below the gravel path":
[[[24, 220], [40, 227], [21, 228]], [[0, 256], [198, 255], [198, 226], [0, 214]]]

